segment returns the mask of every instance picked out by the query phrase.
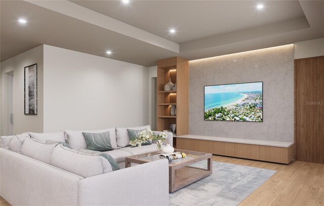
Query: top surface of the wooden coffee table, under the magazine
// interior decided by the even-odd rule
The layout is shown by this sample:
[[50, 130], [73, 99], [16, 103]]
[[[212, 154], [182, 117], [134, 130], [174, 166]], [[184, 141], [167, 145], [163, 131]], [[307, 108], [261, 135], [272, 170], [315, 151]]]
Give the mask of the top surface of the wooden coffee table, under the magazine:
[[[169, 166], [176, 166], [184, 163], [190, 163], [198, 158], [203, 158], [208, 159], [212, 157], [211, 153], [203, 153], [203, 152], [196, 152], [196, 151], [189, 151], [189, 150], [180, 150], [180, 149], [175, 149], [174, 152], [184, 152], [186, 154], [185, 158], [182, 159], [177, 159], [177, 160], [170, 160], [169, 161]], [[150, 153], [145, 153], [142, 155], [135, 155], [131, 157], [127, 157], [126, 159], [131, 159], [131, 160], [137, 160], [137, 161], [142, 161], [142, 162], [152, 162], [152, 161], [157, 161], [161, 160], [163, 158], [159, 157], [159, 155], [163, 154], [162, 151], [155, 151], [155, 152], [150, 152]]]

